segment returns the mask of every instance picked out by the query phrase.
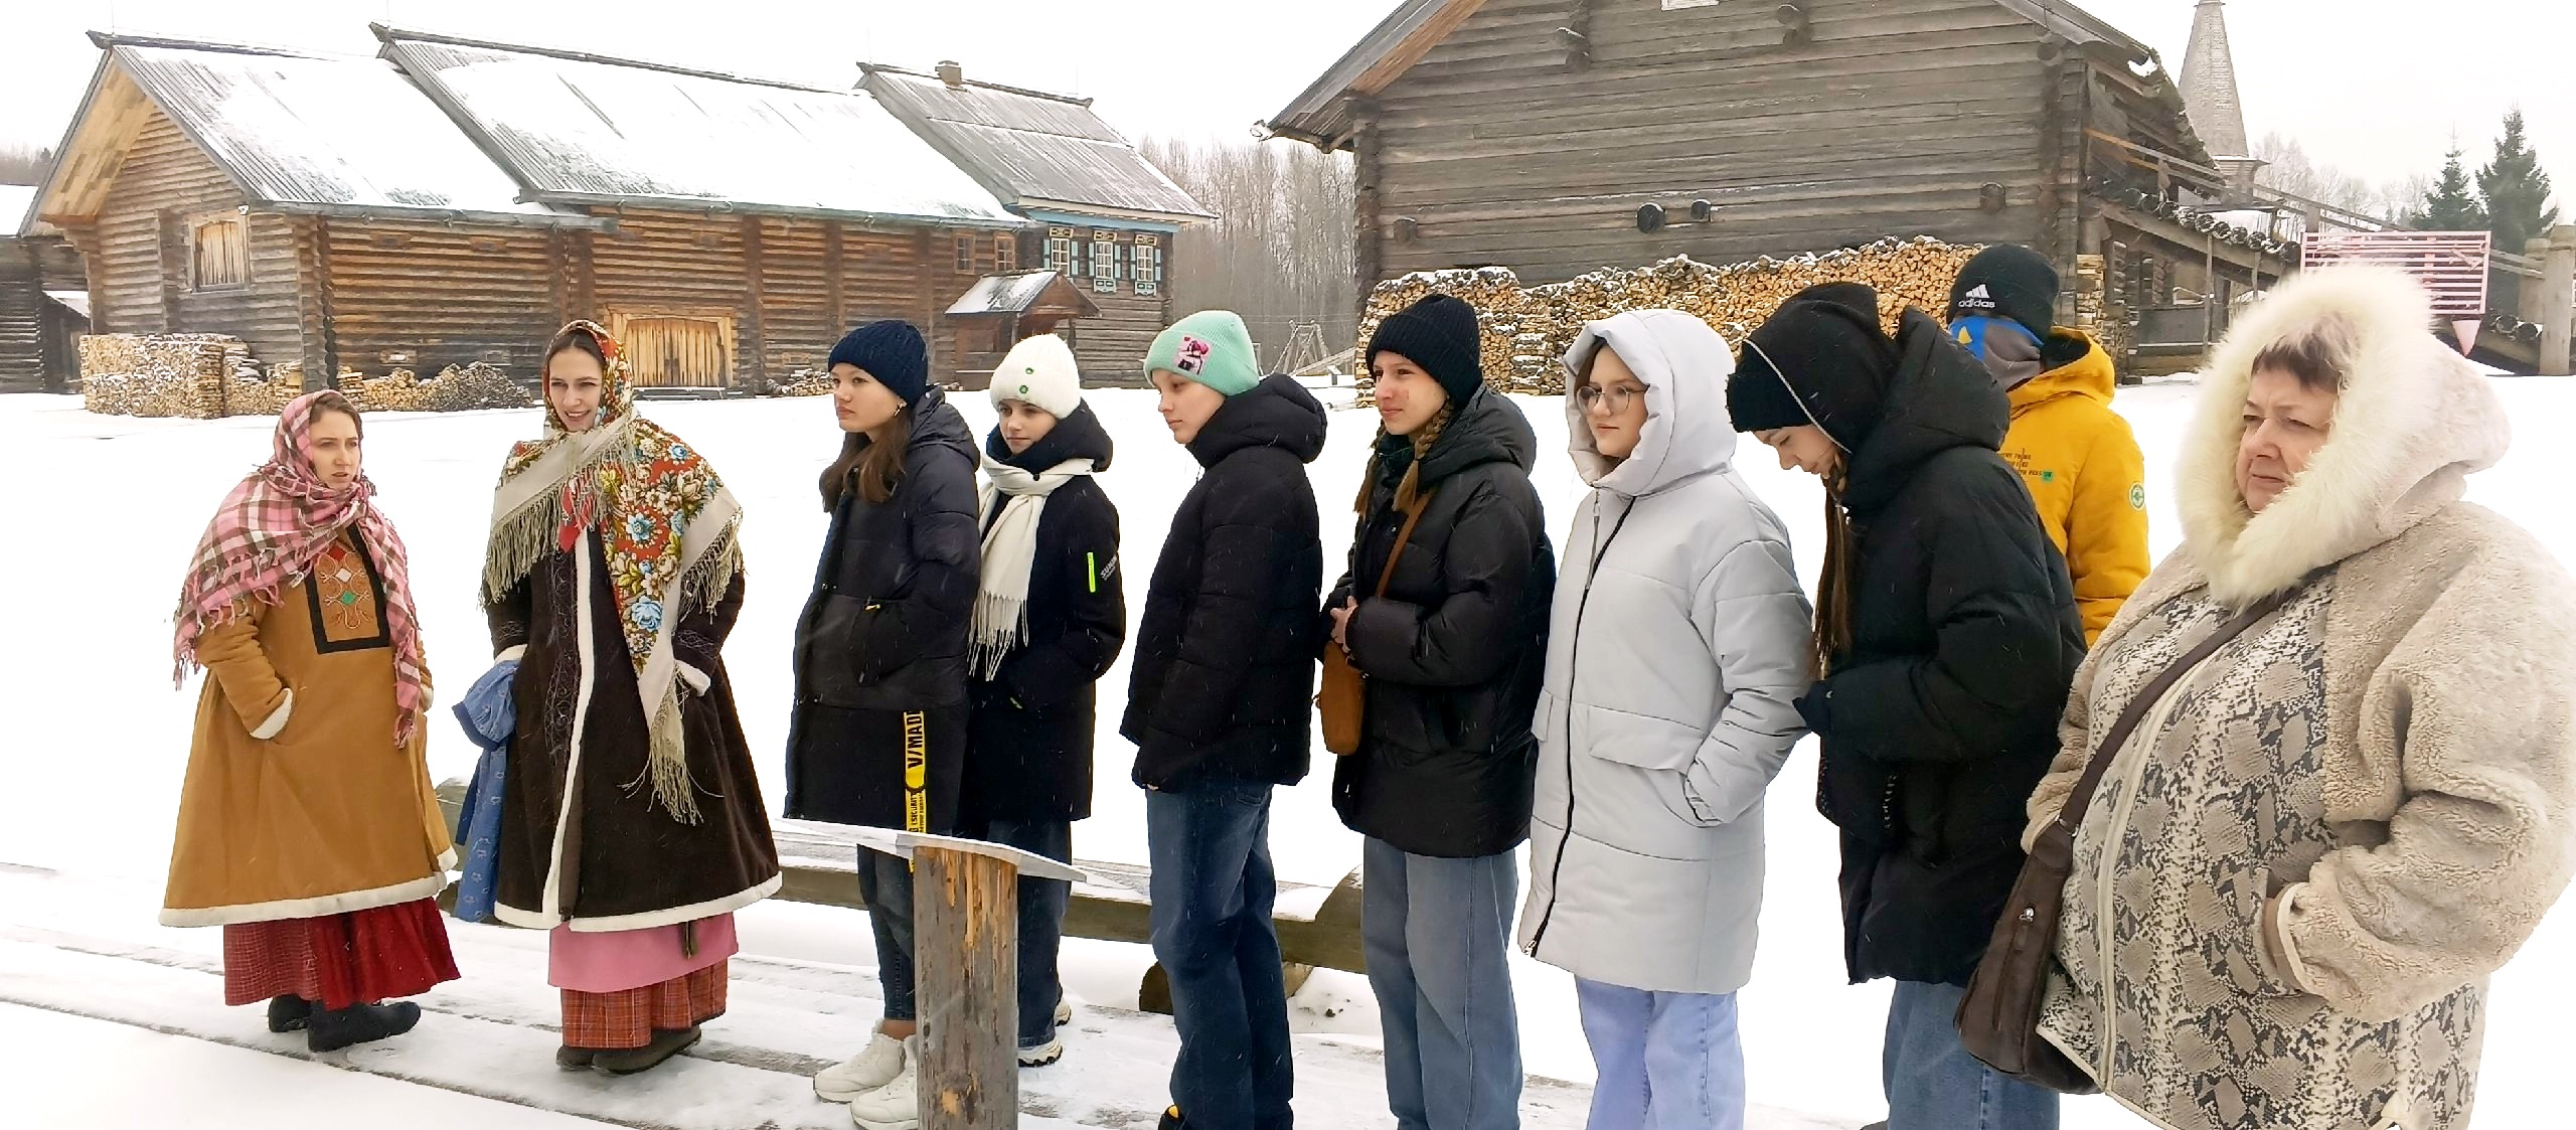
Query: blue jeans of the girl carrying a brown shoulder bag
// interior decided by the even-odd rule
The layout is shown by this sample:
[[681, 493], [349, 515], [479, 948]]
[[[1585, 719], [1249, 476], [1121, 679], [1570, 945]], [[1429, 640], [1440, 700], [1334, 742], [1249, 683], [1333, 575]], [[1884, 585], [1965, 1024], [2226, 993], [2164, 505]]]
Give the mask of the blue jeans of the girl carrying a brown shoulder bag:
[[1396, 1130], [1520, 1127], [1520, 1019], [1512, 1009], [1512, 852], [1476, 860], [1360, 855], [1360, 945], [1386, 1032]]

